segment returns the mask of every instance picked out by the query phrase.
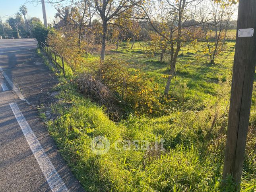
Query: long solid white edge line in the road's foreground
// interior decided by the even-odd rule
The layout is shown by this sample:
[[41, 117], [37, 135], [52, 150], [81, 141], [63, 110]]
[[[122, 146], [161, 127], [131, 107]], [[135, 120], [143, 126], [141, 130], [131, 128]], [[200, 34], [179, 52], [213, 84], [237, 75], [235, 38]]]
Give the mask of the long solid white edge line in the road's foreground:
[[19, 110], [19, 107], [16, 103], [10, 103], [10, 107], [12, 108], [12, 112], [14, 113], [19, 126], [29, 144], [30, 149], [32, 150], [35, 159], [37, 159], [37, 163], [39, 164], [51, 190], [53, 192], [62, 192], [68, 191], [66, 185], [62, 181], [62, 178], [52, 165], [50, 159], [47, 154], [43, 150], [43, 147], [37, 140], [34, 132], [31, 130], [29, 124], [24, 118], [23, 114]]

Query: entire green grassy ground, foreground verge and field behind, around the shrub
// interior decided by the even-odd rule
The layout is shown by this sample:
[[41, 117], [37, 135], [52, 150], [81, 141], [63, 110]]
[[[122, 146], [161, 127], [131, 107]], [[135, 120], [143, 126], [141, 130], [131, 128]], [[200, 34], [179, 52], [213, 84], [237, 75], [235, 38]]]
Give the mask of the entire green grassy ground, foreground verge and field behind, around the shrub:
[[[158, 57], [147, 57], [147, 43], [136, 42], [132, 50], [130, 46], [122, 43], [118, 50], [109, 50], [107, 58], [128, 62], [128, 70], [142, 70], [163, 89], [167, 59], [159, 62]], [[233, 191], [235, 185], [230, 179], [226, 181], [227, 188], [221, 187], [221, 173], [234, 50], [235, 41], [227, 42], [226, 50], [211, 65], [202, 48], [197, 53], [190, 46], [182, 48], [171, 85], [175, 105], [160, 117], [130, 115], [118, 123], [112, 122], [104, 107], [78, 93], [73, 81], [60, 77], [61, 86], [56, 88], [59, 102], [52, 105], [52, 113], [58, 118], [47, 120], [44, 110], [42, 117], [85, 190]], [[92, 64], [99, 60], [99, 55], [85, 60]], [[254, 89], [242, 191], [254, 191], [256, 187], [255, 99]], [[91, 143], [95, 136], [109, 140], [107, 153], [93, 153]], [[153, 150], [155, 141], [161, 139], [165, 140], [165, 151]], [[116, 141], [125, 144], [127, 140], [146, 140], [151, 147], [144, 151], [131, 145], [127, 150], [116, 150]]]

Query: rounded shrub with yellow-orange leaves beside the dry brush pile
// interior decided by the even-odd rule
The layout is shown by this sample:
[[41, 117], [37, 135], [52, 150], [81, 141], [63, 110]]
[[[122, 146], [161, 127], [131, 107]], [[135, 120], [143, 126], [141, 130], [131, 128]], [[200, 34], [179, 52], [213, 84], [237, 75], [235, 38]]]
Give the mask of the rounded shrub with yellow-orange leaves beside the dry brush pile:
[[[159, 115], [165, 111], [170, 96], [159, 91], [158, 83], [140, 70], [128, 70], [128, 64], [120, 60], [105, 60], [104, 64], [95, 66], [94, 76], [101, 80], [116, 95], [124, 112], [136, 115]], [[132, 111], [130, 109], [133, 109]]]

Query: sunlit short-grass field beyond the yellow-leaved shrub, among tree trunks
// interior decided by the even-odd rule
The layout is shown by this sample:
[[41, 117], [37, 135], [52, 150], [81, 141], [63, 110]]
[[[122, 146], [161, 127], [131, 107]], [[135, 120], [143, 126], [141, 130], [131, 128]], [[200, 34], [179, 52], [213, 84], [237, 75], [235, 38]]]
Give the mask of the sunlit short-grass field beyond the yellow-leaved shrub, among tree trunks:
[[[130, 47], [131, 44], [125, 43], [118, 50], [110, 50], [107, 58], [130, 63], [128, 68], [142, 70], [159, 82], [160, 89], [164, 89], [167, 58], [163, 62], [159, 62], [157, 56], [148, 58], [144, 53], [148, 48], [147, 43], [136, 42], [132, 50]], [[234, 53], [235, 41], [227, 42], [226, 50], [216, 59], [216, 64], [211, 65], [207, 54], [202, 50], [199, 49], [196, 54], [192, 47], [183, 47], [178, 56], [176, 76], [171, 87], [173, 97], [179, 101], [194, 99], [196, 103], [193, 102], [193, 104], [197, 105], [214, 103], [218, 98], [217, 95], [224, 91], [221, 87], [231, 81]], [[99, 55], [95, 55], [89, 58], [89, 62], [97, 62], [98, 59]], [[181, 90], [184, 94], [180, 93]]]

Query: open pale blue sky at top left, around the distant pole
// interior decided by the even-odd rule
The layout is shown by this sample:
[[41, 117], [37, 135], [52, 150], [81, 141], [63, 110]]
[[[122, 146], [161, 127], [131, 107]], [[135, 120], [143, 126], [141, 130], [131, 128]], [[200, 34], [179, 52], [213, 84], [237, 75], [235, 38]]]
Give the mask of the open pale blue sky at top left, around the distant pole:
[[[32, 0], [0, 0], [0, 16], [2, 21], [5, 22], [8, 17], [14, 17], [19, 11], [19, 6], [25, 3], [27, 7], [26, 18], [38, 17], [43, 22], [42, 5], [38, 2], [30, 3]], [[45, 0], [47, 1], [47, 0]], [[45, 3], [45, 10], [47, 15], [47, 22], [52, 23], [55, 19], [56, 10], [52, 4]], [[8, 15], [8, 16], [6, 16]], [[5, 16], [5, 17], [4, 17]]]

